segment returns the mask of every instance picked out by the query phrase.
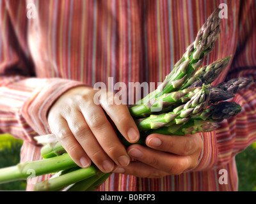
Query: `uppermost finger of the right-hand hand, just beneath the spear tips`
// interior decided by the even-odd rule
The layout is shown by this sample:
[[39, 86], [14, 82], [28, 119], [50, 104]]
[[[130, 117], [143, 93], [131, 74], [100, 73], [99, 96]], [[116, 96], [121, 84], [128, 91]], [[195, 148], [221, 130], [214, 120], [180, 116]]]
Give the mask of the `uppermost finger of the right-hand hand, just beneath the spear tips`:
[[175, 136], [152, 134], [147, 137], [146, 144], [152, 149], [180, 156], [191, 155], [202, 149], [200, 135]]

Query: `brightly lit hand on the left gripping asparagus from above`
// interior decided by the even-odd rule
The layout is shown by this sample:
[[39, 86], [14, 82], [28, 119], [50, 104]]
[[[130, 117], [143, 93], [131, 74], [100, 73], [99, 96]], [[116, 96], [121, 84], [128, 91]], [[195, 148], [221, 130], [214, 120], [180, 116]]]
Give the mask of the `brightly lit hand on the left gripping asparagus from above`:
[[88, 168], [93, 162], [107, 173], [118, 166], [127, 166], [130, 157], [104, 111], [128, 142], [137, 142], [140, 133], [126, 105], [109, 105], [105, 96], [96, 105], [93, 102], [96, 92], [85, 86], [65, 92], [49, 110], [48, 122], [78, 166]]

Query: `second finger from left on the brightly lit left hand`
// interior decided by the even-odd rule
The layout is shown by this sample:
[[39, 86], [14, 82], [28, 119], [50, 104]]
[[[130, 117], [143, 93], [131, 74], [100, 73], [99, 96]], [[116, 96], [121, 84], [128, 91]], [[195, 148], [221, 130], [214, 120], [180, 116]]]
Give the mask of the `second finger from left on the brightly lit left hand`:
[[68, 115], [67, 122], [72, 134], [77, 142], [83, 147], [84, 151], [92, 159], [93, 163], [100, 171], [105, 173], [113, 171], [115, 164], [100, 147], [88, 124], [84, 120], [81, 112], [76, 111]]

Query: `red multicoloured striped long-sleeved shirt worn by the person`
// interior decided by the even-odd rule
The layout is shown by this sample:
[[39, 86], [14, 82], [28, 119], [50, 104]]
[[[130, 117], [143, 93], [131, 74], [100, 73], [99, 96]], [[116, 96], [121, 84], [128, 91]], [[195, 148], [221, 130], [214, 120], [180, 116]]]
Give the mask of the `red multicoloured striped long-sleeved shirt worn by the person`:
[[[256, 80], [255, 0], [0, 0], [0, 133], [24, 140], [21, 162], [41, 159], [33, 137], [51, 133], [47, 111], [63, 92], [108, 84], [108, 77], [114, 83], [163, 82], [221, 3], [228, 18], [204, 64], [232, 55], [215, 83]], [[202, 134], [195, 169], [161, 179], [113, 173], [98, 190], [237, 191], [235, 156], [256, 140], [256, 84], [233, 100], [243, 110]], [[227, 183], [220, 182], [220, 170]], [[49, 177], [36, 177], [27, 190]]]

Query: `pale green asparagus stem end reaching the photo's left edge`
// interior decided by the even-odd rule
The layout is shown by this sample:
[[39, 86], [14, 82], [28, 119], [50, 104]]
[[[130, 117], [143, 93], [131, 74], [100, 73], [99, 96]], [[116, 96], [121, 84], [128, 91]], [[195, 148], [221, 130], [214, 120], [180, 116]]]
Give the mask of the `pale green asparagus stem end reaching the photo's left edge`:
[[0, 183], [13, 180], [26, 180], [28, 177], [37, 177], [48, 173], [56, 173], [77, 166], [68, 154], [49, 159], [41, 159], [19, 163], [16, 166], [0, 169]]

